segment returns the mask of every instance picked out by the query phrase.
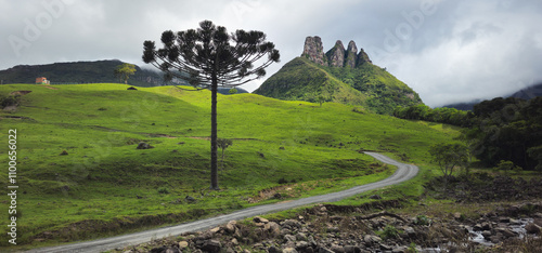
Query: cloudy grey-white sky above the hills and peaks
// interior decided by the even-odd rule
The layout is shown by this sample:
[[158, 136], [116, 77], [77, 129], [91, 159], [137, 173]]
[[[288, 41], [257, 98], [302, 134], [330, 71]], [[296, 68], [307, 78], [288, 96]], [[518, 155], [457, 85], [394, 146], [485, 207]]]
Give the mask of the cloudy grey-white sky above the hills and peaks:
[[0, 0], [0, 69], [113, 58], [144, 66], [144, 40], [210, 19], [267, 34], [282, 59], [267, 77], [301, 54], [307, 36], [320, 36], [325, 51], [353, 40], [429, 106], [542, 81], [540, 0]]

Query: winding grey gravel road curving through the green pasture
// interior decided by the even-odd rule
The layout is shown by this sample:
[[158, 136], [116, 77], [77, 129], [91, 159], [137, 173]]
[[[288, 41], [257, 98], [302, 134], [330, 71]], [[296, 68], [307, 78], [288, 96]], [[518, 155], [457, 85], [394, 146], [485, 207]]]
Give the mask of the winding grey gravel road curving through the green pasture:
[[273, 203], [273, 204], [258, 205], [258, 207], [236, 211], [236, 212], [233, 212], [230, 214], [224, 214], [224, 215], [220, 215], [217, 217], [206, 218], [206, 219], [192, 222], [192, 223], [185, 223], [185, 224], [171, 226], [171, 227], [157, 228], [157, 229], [153, 229], [153, 230], [134, 232], [134, 234], [117, 236], [117, 237], [112, 237], [112, 238], [105, 238], [105, 239], [99, 239], [99, 240], [94, 240], [94, 241], [77, 242], [77, 243], [66, 244], [66, 245], [36, 249], [36, 250], [28, 251], [28, 252], [55, 252], [55, 253], [69, 252], [69, 253], [72, 253], [72, 252], [102, 252], [102, 251], [113, 250], [113, 249], [117, 249], [117, 248], [122, 249], [122, 248], [128, 247], [128, 245], [134, 245], [134, 244], [139, 244], [139, 243], [149, 242], [153, 238], [164, 238], [164, 237], [169, 237], [169, 236], [177, 236], [177, 235], [180, 235], [183, 232], [205, 230], [208, 228], [212, 228], [212, 227], [217, 227], [219, 225], [225, 224], [225, 223], [233, 221], [233, 219], [243, 219], [246, 217], [262, 215], [266, 213], [272, 213], [272, 212], [288, 210], [288, 209], [298, 208], [298, 207], [302, 207], [302, 205], [314, 204], [314, 203], [338, 201], [340, 199], [345, 199], [345, 198], [361, 194], [363, 191], [373, 190], [376, 188], [380, 188], [380, 187], [385, 187], [385, 186], [389, 186], [389, 185], [395, 185], [395, 184], [398, 184], [401, 182], [405, 182], [405, 181], [414, 177], [418, 172], [418, 168], [416, 165], [400, 163], [391, 158], [388, 158], [384, 155], [376, 154], [376, 152], [365, 152], [365, 154], [374, 157], [375, 159], [377, 159], [384, 163], [396, 165], [397, 167], [396, 173], [393, 175], [387, 177], [386, 179], [375, 182], [372, 184], [356, 186], [353, 188], [338, 191], [338, 192], [333, 192], [333, 194], [327, 194], [327, 195], [322, 195], [322, 196], [314, 196], [314, 197], [309, 197], [309, 198], [305, 198], [305, 199], [293, 200], [289, 202], [280, 202], [280, 203]]

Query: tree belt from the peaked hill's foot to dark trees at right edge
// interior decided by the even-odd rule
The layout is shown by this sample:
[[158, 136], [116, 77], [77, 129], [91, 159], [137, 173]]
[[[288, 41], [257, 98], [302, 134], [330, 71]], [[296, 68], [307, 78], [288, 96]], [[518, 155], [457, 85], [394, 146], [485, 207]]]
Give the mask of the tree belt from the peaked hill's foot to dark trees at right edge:
[[511, 161], [542, 171], [542, 97], [498, 97], [476, 104], [473, 111], [414, 105], [397, 107], [393, 116], [465, 128], [470, 152], [487, 167]]

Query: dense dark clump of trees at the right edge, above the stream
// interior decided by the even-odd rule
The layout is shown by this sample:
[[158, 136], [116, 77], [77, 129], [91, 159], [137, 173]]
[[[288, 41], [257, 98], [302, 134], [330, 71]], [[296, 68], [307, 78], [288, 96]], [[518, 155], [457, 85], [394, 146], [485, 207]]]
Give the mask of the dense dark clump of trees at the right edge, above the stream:
[[475, 105], [474, 124], [465, 130], [474, 155], [486, 165], [512, 161], [542, 171], [542, 97], [494, 98]]

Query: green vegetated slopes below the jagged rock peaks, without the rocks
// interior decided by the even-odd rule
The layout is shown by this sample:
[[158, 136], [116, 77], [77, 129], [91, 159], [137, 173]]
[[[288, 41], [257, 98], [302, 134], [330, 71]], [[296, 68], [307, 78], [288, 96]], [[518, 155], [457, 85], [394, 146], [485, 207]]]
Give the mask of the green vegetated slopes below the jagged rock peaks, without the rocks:
[[317, 102], [321, 97], [387, 115], [397, 106], [422, 103], [411, 88], [369, 62], [356, 68], [327, 67], [302, 56], [285, 64], [254, 93], [287, 101]]

